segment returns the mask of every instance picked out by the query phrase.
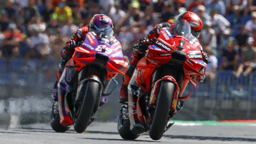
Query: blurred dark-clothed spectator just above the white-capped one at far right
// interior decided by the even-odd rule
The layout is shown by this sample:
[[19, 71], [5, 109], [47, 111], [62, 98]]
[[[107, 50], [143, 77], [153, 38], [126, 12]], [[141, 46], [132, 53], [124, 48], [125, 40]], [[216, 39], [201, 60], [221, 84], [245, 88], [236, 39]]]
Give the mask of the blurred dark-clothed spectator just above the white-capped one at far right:
[[246, 34], [246, 30], [244, 29], [243, 25], [240, 25], [238, 28], [239, 28], [239, 32], [235, 36], [235, 40], [236, 40], [236, 44], [238, 45], [238, 54], [240, 56], [241, 55], [241, 50], [246, 45], [246, 39], [249, 36]]

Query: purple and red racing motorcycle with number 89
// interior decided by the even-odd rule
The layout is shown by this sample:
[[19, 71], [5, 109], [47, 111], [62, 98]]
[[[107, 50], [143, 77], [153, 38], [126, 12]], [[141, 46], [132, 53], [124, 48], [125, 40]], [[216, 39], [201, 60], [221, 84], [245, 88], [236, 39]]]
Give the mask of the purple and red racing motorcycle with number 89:
[[117, 86], [115, 77], [124, 75], [126, 68], [122, 46], [110, 26], [88, 32], [60, 77], [58, 101], [52, 106], [52, 129], [65, 132], [74, 125], [76, 132], [84, 132], [95, 119], [101, 97], [112, 93]]

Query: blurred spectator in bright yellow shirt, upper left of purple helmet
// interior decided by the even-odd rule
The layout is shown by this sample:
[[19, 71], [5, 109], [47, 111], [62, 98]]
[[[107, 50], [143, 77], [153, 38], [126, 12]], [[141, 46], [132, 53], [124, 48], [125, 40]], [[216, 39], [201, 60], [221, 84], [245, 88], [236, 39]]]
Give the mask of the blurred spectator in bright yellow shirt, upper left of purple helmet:
[[61, 0], [58, 6], [55, 8], [54, 13], [57, 14], [57, 20], [60, 25], [65, 25], [68, 18], [72, 17], [72, 10], [71, 8], [66, 5], [65, 0]]

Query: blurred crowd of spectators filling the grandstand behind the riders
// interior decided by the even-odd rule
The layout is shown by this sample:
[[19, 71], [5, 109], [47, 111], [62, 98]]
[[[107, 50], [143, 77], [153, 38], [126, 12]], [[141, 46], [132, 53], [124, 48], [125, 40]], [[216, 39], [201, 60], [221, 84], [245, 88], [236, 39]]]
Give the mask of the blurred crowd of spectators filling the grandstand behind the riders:
[[0, 10], [0, 58], [58, 61], [60, 49], [94, 14], [108, 15], [129, 58], [136, 40], [161, 22], [192, 11], [203, 21], [200, 43], [217, 70], [235, 77], [256, 68], [256, 1], [253, 0], [6, 0]]

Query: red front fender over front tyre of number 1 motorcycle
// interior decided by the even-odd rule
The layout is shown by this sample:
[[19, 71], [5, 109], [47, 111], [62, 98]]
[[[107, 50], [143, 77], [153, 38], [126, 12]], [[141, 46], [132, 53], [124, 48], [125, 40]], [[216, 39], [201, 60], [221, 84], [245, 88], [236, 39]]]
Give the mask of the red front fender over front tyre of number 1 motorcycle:
[[172, 75], [165, 75], [153, 84], [153, 86], [152, 86], [153, 88], [152, 88], [152, 91], [151, 91], [151, 94], [150, 94], [149, 105], [150, 106], [155, 106], [157, 96], [158, 96], [158, 93], [159, 93], [158, 89], [159, 89], [159, 86], [160, 86], [162, 81], [170, 81], [171, 83], [174, 83], [176, 85], [175, 90], [174, 90], [173, 99], [172, 99], [172, 106], [171, 106], [171, 110], [175, 110], [176, 106], [177, 106], [180, 87], [179, 87], [179, 84], [177, 83], [176, 79]]

